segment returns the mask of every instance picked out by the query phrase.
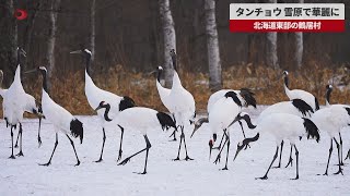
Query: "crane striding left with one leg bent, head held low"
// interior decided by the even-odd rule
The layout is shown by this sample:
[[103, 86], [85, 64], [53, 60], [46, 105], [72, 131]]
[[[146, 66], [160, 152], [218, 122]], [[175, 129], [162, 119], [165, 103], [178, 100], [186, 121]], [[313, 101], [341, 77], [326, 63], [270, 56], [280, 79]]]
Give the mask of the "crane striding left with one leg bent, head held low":
[[[110, 105], [106, 103], [105, 101], [101, 101], [96, 110], [100, 109], [105, 109], [104, 110], [104, 118], [106, 120], [110, 120], [108, 117], [108, 112], [110, 109]], [[103, 111], [103, 110], [101, 110]], [[145, 150], [145, 161], [144, 161], [144, 169], [143, 172], [139, 174], [145, 174], [147, 173], [147, 162], [148, 162], [148, 157], [149, 157], [149, 150], [152, 147], [149, 137], [148, 137], [148, 132], [149, 131], [154, 131], [154, 130], [167, 130], [170, 127], [175, 128], [175, 122], [173, 119], [163, 112], [155, 111], [150, 108], [143, 108], [143, 107], [133, 107], [129, 108], [127, 110], [121, 111], [118, 114], [118, 118], [116, 119], [116, 124], [119, 126], [121, 132], [125, 130], [132, 131], [132, 130], [138, 130], [139, 133], [144, 137], [145, 142], [145, 148], [141, 149], [140, 151], [131, 155], [130, 157], [127, 157], [124, 159], [119, 166], [124, 166], [130, 161], [130, 159], [142, 151]], [[121, 149], [121, 143], [120, 143], [120, 149]]]

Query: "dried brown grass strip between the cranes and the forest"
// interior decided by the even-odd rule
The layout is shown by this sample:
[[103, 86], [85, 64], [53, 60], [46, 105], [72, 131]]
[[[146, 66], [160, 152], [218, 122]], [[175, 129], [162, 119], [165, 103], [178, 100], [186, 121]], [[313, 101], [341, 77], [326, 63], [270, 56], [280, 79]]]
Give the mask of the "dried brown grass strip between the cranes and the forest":
[[[325, 86], [335, 75], [340, 75], [342, 69], [319, 69], [308, 65], [304, 72], [290, 73], [291, 89], [299, 88], [316, 95], [320, 105], [325, 103]], [[281, 70], [266, 69], [262, 66], [236, 65], [223, 71], [223, 87], [240, 89], [248, 87], [256, 94], [258, 105], [272, 105], [278, 101], [288, 100], [281, 77]], [[83, 71], [65, 75], [63, 79], [51, 81], [52, 99], [68, 109], [73, 114], [93, 114], [94, 111], [88, 103], [84, 94]], [[206, 112], [207, 101], [211, 91], [208, 85], [208, 74], [179, 73], [183, 85], [194, 95], [198, 112]], [[148, 73], [132, 73], [125, 71], [121, 66], [110, 69], [106, 75], [94, 75], [95, 84], [102, 89], [109, 90], [119, 96], [131, 97], [138, 106], [150, 107], [166, 111], [163, 107], [155, 87], [155, 77]], [[23, 84], [28, 79], [24, 78]], [[33, 79], [32, 79], [33, 81]], [[42, 81], [34, 78], [34, 83], [25, 85], [27, 93], [39, 99]], [[349, 103], [350, 91], [340, 91], [335, 88], [331, 102]]]

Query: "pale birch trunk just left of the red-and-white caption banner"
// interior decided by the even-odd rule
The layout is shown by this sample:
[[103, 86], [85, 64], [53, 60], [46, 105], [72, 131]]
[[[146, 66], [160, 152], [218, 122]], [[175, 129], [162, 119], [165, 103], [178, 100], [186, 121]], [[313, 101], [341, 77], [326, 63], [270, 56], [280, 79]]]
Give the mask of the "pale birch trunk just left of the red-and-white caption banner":
[[212, 91], [222, 88], [219, 39], [215, 21], [215, 0], [206, 0], [206, 30], [209, 65], [209, 87]]

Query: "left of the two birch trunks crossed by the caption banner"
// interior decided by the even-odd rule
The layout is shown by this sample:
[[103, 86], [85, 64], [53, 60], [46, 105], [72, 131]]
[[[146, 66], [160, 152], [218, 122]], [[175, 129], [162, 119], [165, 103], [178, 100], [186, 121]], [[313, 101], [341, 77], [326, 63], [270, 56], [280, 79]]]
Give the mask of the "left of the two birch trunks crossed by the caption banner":
[[[269, 0], [270, 3], [277, 3], [277, 0]], [[277, 32], [267, 33], [267, 64], [273, 69], [279, 69], [277, 57]]]

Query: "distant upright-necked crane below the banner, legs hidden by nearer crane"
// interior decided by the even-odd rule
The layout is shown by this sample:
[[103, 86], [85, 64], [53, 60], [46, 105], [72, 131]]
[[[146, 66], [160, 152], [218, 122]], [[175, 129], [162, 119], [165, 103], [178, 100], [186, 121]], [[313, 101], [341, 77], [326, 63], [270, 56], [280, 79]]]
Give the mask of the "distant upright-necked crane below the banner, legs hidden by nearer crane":
[[302, 90], [302, 89], [289, 89], [289, 78], [288, 78], [288, 72], [284, 71], [283, 72], [283, 77], [284, 77], [284, 83], [283, 83], [283, 87], [284, 87], [284, 91], [285, 95], [288, 96], [288, 98], [290, 100], [293, 99], [302, 99], [304, 100], [307, 105], [310, 105], [311, 107], [313, 107], [314, 111], [319, 110], [319, 103], [317, 98], [312, 95], [308, 91]]

